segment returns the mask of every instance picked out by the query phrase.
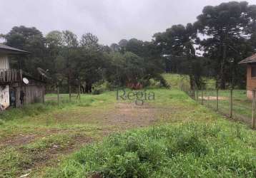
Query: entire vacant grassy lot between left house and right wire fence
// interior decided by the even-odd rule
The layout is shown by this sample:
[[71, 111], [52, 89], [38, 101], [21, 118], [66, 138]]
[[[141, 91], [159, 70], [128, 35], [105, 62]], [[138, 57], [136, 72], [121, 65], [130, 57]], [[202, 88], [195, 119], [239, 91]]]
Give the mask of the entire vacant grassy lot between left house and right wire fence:
[[177, 89], [150, 91], [144, 106], [107, 92], [1, 113], [0, 177], [255, 177], [255, 131]]

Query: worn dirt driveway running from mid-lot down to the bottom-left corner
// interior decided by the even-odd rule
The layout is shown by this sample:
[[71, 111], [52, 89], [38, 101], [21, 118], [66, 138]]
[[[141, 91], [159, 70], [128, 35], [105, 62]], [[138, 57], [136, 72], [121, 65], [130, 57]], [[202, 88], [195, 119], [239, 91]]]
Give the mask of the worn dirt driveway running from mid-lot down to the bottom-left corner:
[[29, 117], [26, 122], [33, 123], [33, 126], [28, 124], [9, 130], [9, 134], [0, 138], [0, 148], [6, 150], [4, 152], [14, 149], [14, 154], [29, 157], [29, 163], [19, 164], [19, 171], [14, 175], [30, 177], [44, 172], [44, 167], [58, 164], [61, 157], [83, 145], [102, 140], [113, 132], [153, 125], [168, 115], [167, 110], [155, 105], [134, 103], [114, 103], [107, 108], [57, 110]]

